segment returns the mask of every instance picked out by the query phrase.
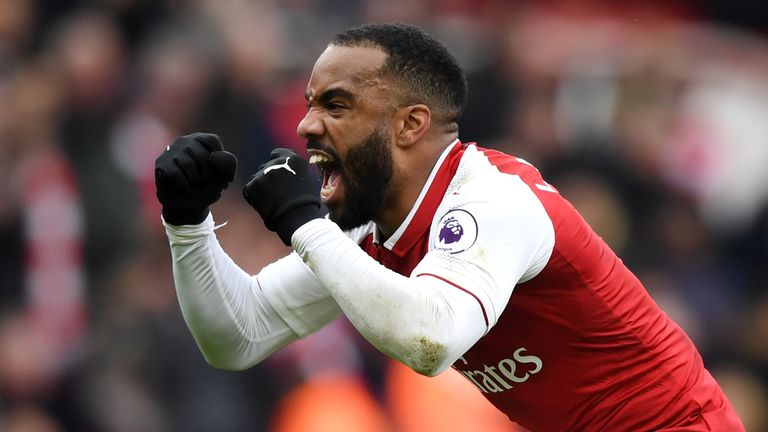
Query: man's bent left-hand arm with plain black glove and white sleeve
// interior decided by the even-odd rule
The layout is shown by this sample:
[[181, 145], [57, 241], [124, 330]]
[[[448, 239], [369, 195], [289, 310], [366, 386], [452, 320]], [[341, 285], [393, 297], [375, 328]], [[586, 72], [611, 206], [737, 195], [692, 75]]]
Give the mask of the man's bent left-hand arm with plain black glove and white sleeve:
[[224, 253], [209, 206], [236, 168], [221, 139], [204, 133], [177, 138], [155, 161], [184, 319], [208, 362], [226, 369], [256, 364], [340, 313], [295, 254], [252, 277]]

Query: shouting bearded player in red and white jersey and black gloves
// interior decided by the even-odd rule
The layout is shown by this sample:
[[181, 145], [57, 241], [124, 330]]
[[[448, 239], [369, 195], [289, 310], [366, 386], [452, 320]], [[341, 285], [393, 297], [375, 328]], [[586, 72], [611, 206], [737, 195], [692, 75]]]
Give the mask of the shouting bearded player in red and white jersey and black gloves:
[[[235, 158], [178, 138], [156, 165], [187, 324], [214, 366], [250, 367], [340, 314], [424, 375], [448, 367], [532, 431], [743, 430], [696, 348], [522, 159], [458, 139], [463, 72], [423, 31], [338, 34], [298, 125], [243, 189], [295, 253], [250, 276], [208, 206]], [[330, 215], [325, 218], [321, 202]]]

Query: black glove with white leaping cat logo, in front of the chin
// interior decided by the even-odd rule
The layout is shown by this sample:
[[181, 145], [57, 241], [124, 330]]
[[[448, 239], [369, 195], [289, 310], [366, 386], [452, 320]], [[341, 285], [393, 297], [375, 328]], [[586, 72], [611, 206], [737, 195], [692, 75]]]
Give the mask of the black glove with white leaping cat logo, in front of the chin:
[[272, 150], [269, 161], [243, 187], [243, 196], [287, 246], [300, 226], [324, 216], [309, 164], [284, 148]]

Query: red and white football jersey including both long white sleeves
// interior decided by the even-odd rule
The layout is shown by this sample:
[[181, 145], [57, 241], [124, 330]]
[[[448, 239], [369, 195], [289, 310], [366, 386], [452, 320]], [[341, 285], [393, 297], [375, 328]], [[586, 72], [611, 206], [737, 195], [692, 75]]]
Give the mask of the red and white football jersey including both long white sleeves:
[[456, 141], [389, 238], [314, 219], [258, 275], [214, 229], [166, 224], [184, 318], [218, 367], [343, 313], [417, 372], [452, 363], [532, 431], [744, 430], [690, 339], [521, 159]]

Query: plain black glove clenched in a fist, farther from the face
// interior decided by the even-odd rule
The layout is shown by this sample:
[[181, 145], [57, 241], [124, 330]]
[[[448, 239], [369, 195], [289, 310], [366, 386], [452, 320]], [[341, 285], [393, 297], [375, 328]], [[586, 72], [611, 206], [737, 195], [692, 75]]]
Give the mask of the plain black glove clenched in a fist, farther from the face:
[[237, 158], [224, 150], [221, 138], [193, 133], [176, 138], [155, 160], [157, 199], [171, 225], [198, 224], [208, 206], [235, 178]]

